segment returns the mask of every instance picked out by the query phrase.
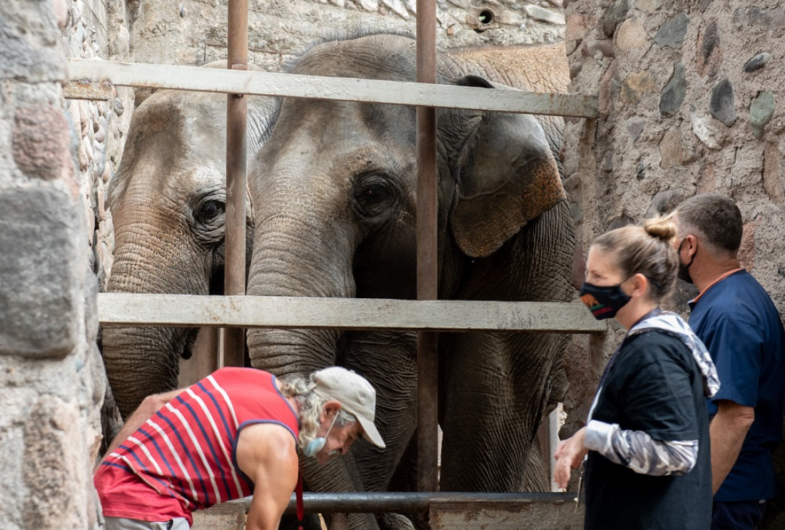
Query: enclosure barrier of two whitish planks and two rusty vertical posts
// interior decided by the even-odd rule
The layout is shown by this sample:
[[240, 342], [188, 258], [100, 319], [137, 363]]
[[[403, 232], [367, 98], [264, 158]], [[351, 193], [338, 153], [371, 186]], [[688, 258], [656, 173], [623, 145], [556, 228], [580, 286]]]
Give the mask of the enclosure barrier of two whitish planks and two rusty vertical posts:
[[[436, 489], [436, 332], [520, 331], [592, 333], [605, 326], [582, 305], [558, 302], [468, 302], [435, 300], [436, 140], [435, 109], [466, 108], [593, 118], [597, 97], [530, 93], [435, 84], [434, 0], [417, 2], [417, 82], [332, 78], [246, 71], [247, 4], [229, 2], [228, 69], [204, 69], [103, 60], [69, 61], [72, 99], [109, 99], [113, 86], [197, 90], [228, 94], [227, 119], [227, 283], [224, 297], [173, 294], [99, 294], [103, 325], [180, 327], [330, 327], [418, 331], [418, 488]], [[245, 110], [243, 94], [333, 101], [414, 105], [418, 110], [418, 300], [251, 297], [245, 282]], [[239, 104], [238, 104], [239, 103]], [[232, 197], [230, 197], [230, 195]], [[423, 224], [425, 223], [425, 224]], [[242, 247], [242, 249], [239, 249]], [[230, 261], [232, 263], [230, 264]], [[228, 364], [239, 364], [242, 335], [229, 332]], [[431, 406], [423, 407], [422, 403]], [[373, 495], [373, 494], [367, 494]], [[522, 495], [522, 494], [521, 494]], [[466, 502], [462, 497], [456, 503]], [[520, 496], [520, 499], [524, 499]], [[400, 508], [400, 506], [399, 506]], [[396, 511], [391, 507], [387, 511]], [[376, 510], [374, 510], [376, 511]]]

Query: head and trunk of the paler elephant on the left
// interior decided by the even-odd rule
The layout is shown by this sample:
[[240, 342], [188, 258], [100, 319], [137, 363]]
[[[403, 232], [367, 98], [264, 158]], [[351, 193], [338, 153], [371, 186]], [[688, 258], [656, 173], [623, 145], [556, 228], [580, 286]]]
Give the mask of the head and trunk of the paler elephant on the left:
[[[225, 68], [225, 61], [207, 65]], [[248, 97], [250, 158], [277, 102]], [[108, 291], [222, 294], [226, 96], [159, 90], [134, 111], [108, 204], [115, 228]], [[249, 203], [250, 204], [250, 203]], [[247, 255], [252, 246], [250, 206]], [[145, 396], [177, 388], [198, 328], [104, 327], [111, 390], [125, 418]]]

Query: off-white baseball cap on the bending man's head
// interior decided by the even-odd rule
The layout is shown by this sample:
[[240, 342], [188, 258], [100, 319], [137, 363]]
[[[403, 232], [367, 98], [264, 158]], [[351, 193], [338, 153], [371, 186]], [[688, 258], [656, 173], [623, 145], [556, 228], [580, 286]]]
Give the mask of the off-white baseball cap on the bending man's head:
[[341, 407], [355, 415], [363, 427], [363, 437], [380, 448], [385, 441], [374, 425], [376, 390], [362, 375], [339, 366], [314, 372], [310, 389], [326, 400], [336, 400]]

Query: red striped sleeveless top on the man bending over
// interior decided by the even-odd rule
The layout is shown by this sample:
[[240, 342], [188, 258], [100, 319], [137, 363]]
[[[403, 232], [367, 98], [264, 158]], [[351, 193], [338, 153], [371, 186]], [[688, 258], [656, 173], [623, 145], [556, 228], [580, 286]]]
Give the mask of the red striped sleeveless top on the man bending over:
[[296, 442], [298, 419], [275, 377], [225, 367], [188, 387], [108, 455], [93, 481], [105, 517], [169, 521], [253, 493], [237, 466], [243, 427], [277, 423]]

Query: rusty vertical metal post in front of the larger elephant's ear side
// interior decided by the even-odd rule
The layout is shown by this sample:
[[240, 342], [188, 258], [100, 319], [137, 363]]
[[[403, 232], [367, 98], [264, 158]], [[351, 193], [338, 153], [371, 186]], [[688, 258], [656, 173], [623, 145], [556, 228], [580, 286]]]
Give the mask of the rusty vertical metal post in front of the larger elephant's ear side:
[[[417, 0], [417, 81], [436, 82], [436, 0]], [[438, 298], [436, 109], [417, 108], [417, 299]], [[417, 334], [418, 490], [435, 492], [438, 456], [436, 333]]]

